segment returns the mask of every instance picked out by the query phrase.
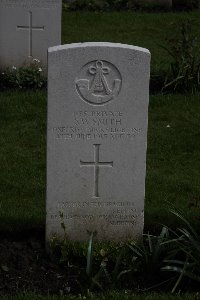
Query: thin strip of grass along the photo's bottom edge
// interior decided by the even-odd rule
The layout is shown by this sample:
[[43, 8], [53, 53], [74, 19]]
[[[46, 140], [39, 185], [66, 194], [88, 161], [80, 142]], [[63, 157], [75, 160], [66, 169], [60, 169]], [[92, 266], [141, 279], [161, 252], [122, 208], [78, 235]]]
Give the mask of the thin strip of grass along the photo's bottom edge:
[[35, 294], [2, 297], [2, 300], [199, 300], [199, 294], [170, 295], [170, 294], [146, 294], [137, 295], [127, 292], [110, 292], [107, 294], [90, 294], [89, 296], [39, 296]]

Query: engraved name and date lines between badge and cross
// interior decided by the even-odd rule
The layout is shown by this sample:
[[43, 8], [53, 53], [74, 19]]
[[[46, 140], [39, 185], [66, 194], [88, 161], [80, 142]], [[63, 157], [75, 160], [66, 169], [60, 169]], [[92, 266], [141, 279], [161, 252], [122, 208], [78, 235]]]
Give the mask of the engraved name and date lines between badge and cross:
[[54, 138], [63, 140], [133, 139], [141, 131], [127, 126], [127, 117], [121, 111], [76, 111], [69, 124], [52, 128]]

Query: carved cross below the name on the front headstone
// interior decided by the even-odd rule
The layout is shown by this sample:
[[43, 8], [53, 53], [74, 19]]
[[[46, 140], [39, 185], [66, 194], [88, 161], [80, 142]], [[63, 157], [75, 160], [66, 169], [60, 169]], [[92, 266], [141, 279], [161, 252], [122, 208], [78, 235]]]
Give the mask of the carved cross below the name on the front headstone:
[[100, 144], [94, 144], [94, 161], [84, 162], [80, 160], [81, 167], [93, 167], [94, 168], [94, 195], [93, 197], [99, 197], [99, 167], [113, 167], [113, 161], [104, 162], [99, 161], [99, 148]]

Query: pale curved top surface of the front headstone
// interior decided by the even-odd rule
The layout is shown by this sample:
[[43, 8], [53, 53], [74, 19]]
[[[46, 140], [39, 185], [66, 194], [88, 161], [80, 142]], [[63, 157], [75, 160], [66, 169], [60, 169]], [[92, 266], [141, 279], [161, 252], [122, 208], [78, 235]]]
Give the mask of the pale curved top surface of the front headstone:
[[128, 45], [128, 44], [121, 44], [121, 43], [109, 43], [109, 42], [86, 42], [86, 43], [73, 43], [73, 44], [65, 44], [60, 46], [54, 46], [48, 48], [48, 52], [60, 51], [60, 50], [68, 50], [74, 48], [87, 48], [87, 47], [107, 47], [107, 48], [121, 48], [121, 49], [129, 49], [135, 50], [138, 52], [143, 52], [150, 55], [150, 52], [146, 48]]

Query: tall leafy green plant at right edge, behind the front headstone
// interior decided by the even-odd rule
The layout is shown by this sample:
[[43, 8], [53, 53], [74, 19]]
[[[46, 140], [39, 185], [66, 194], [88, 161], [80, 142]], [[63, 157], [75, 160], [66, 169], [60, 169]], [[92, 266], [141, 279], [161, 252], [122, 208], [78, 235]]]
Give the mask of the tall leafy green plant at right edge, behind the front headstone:
[[163, 91], [195, 94], [200, 90], [199, 43], [192, 29], [192, 22], [184, 21], [180, 38], [169, 40], [170, 47], [165, 48], [172, 62]]

